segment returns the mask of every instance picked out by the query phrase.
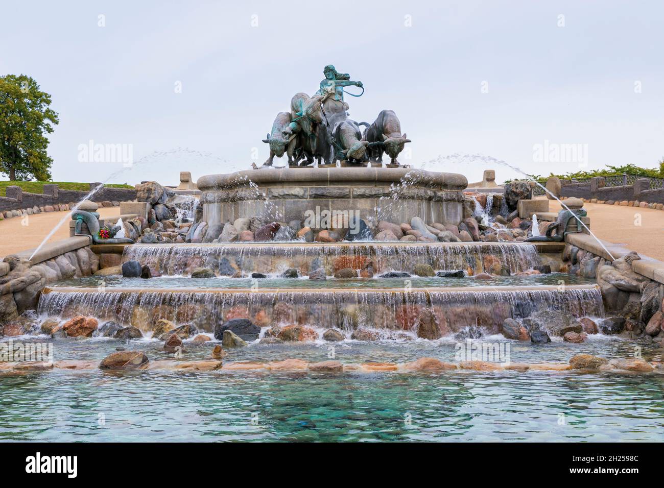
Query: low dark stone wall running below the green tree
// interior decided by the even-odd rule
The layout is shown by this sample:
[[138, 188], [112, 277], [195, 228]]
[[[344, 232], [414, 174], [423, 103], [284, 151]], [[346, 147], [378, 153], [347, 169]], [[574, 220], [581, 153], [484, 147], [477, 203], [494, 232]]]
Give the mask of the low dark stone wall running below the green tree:
[[[90, 189], [93, 189], [99, 183], [90, 183]], [[81, 201], [88, 192], [76, 190], [63, 190], [58, 185], [47, 183], [44, 185], [44, 193], [24, 192], [21, 187], [7, 187], [6, 197], [0, 197], [0, 211], [3, 210], [21, 210], [33, 208], [35, 206], [53, 206], [58, 204], [68, 204]], [[104, 187], [94, 195], [91, 200], [94, 202], [104, 201], [127, 201], [136, 198], [135, 189], [131, 188], [110, 188]]]

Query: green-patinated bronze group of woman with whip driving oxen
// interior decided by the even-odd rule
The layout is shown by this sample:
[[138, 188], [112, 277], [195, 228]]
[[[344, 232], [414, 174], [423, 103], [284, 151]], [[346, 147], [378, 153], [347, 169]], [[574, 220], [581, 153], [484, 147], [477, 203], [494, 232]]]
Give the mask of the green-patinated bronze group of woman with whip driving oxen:
[[[382, 110], [376, 120], [355, 122], [348, 118], [344, 94], [361, 96], [362, 82], [351, 81], [349, 74], [339, 73], [329, 64], [323, 70], [325, 79], [313, 97], [298, 93], [291, 99], [290, 112], [280, 112], [272, 123], [264, 143], [270, 145], [270, 157], [263, 167], [271, 167], [274, 157], [288, 157], [290, 167], [344, 166], [382, 167], [382, 155], [390, 157], [388, 167], [401, 167], [397, 156], [410, 142], [401, 133], [401, 124], [392, 110]], [[360, 94], [344, 90], [345, 86], [362, 88]], [[365, 127], [361, 131], [360, 126]], [[255, 163], [253, 164], [256, 168]]]

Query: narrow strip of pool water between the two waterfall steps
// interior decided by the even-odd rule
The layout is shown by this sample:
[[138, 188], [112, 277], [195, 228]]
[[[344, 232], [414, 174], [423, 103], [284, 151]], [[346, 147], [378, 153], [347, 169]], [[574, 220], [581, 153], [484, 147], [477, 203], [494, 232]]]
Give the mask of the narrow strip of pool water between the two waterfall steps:
[[[408, 280], [406, 283], [405, 280]], [[98, 288], [199, 288], [199, 289], [251, 289], [254, 287], [274, 289], [324, 289], [324, 288], [413, 288], [426, 287], [468, 287], [468, 286], [534, 286], [534, 285], [583, 285], [594, 284], [595, 280], [582, 278], [568, 273], [535, 274], [527, 276], [494, 276], [491, 280], [465, 278], [352, 278], [350, 280], [309, 280], [303, 278], [191, 278], [189, 276], [159, 276], [145, 280], [143, 278], [123, 278], [122, 276], [88, 276], [61, 280], [55, 287], [89, 287]]]

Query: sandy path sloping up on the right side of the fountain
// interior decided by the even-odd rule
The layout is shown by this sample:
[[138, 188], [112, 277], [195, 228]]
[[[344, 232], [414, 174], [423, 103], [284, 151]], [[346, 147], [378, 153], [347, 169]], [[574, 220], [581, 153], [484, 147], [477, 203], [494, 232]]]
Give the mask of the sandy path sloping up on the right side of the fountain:
[[[561, 206], [551, 200], [548, 208], [559, 212]], [[584, 203], [584, 208], [590, 217], [590, 230], [598, 238], [664, 261], [664, 210], [599, 203]]]

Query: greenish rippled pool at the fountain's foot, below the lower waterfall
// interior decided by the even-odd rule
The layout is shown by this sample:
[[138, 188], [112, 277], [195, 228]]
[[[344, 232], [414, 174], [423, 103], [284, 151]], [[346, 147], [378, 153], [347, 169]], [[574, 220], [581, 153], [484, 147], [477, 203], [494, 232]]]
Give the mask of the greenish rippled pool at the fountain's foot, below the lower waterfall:
[[[567, 362], [580, 352], [627, 357], [634, 347], [602, 336], [583, 345], [509, 343], [512, 362], [531, 363]], [[141, 349], [152, 360], [172, 359], [149, 339], [56, 340], [54, 356], [101, 359], [118, 345]], [[252, 343], [230, 350], [224, 361], [324, 361], [329, 347]], [[453, 361], [456, 351], [449, 339], [334, 347], [343, 363], [422, 356]], [[211, 348], [185, 342], [183, 359], [201, 359]], [[646, 359], [659, 354], [643, 345]], [[52, 370], [0, 376], [0, 440], [661, 442], [663, 389], [661, 375]]]

